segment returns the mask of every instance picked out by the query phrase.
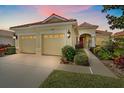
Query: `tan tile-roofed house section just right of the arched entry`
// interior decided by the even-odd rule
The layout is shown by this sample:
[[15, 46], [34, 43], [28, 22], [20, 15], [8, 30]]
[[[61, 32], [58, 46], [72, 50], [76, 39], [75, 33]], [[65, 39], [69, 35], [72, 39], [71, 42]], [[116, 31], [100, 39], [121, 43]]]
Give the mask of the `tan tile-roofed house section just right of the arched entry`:
[[111, 38], [112, 32], [96, 30], [96, 45], [104, 45]]

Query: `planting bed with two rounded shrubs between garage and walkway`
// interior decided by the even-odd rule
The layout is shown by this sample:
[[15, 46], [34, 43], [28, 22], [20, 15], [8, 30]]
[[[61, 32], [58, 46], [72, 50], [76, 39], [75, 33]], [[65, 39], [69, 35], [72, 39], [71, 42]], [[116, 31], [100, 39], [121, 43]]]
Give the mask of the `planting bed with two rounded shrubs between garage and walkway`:
[[74, 49], [72, 46], [64, 46], [62, 48], [62, 64], [73, 64], [89, 66], [88, 56], [83, 48]]

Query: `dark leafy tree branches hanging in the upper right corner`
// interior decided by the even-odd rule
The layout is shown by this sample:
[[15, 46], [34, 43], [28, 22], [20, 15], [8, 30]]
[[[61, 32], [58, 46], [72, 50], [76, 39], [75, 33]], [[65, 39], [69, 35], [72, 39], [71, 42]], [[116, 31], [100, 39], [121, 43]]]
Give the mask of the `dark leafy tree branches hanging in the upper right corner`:
[[[122, 13], [120, 16], [110, 15], [107, 13], [110, 10], [121, 10]], [[103, 5], [102, 12], [107, 13], [110, 29], [124, 29], [124, 5]]]

